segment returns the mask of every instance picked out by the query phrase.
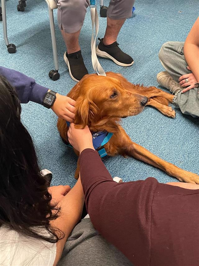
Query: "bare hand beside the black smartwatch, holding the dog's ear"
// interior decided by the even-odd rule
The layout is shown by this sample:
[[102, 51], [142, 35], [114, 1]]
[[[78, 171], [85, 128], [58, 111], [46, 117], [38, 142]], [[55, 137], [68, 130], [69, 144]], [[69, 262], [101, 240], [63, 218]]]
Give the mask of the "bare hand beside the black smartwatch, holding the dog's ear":
[[56, 94], [56, 100], [51, 106], [53, 112], [60, 118], [67, 120], [68, 122], [74, 122], [75, 119], [75, 103], [73, 99]]

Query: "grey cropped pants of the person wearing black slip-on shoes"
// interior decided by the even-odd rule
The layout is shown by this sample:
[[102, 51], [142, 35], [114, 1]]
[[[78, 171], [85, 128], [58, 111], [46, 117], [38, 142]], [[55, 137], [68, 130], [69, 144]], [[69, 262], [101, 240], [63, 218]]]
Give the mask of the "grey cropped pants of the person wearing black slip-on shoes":
[[[61, 30], [74, 33], [81, 29], [90, 0], [57, 0], [58, 24]], [[99, 3], [99, 1], [96, 0]], [[123, 19], [132, 16], [135, 0], [110, 0], [107, 16], [111, 19]]]

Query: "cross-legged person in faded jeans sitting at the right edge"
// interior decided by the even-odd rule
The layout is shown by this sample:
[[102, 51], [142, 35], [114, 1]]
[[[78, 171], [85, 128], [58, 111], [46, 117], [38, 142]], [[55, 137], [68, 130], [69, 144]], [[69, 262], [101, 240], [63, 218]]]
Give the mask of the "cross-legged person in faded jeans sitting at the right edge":
[[166, 71], [158, 73], [158, 83], [175, 94], [183, 114], [199, 117], [199, 17], [185, 42], [163, 44], [159, 59]]

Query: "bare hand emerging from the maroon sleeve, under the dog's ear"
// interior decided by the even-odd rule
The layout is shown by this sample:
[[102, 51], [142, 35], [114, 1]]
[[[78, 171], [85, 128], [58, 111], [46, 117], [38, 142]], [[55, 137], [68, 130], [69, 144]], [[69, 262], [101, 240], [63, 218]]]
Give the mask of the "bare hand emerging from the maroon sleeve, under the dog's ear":
[[70, 144], [80, 153], [87, 148], [95, 150], [93, 147], [92, 135], [88, 126], [83, 129], [77, 129], [75, 128], [74, 123], [70, 123], [67, 135]]

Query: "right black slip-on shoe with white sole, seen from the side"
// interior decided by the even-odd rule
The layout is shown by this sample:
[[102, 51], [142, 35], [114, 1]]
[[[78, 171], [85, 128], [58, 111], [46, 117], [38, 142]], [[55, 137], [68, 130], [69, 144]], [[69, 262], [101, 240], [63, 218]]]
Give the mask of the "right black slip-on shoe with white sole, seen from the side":
[[131, 56], [125, 54], [119, 47], [117, 41], [110, 45], [103, 44], [103, 38], [100, 39], [99, 45], [96, 47], [96, 54], [101, 57], [109, 58], [117, 65], [130, 66], [134, 63]]

